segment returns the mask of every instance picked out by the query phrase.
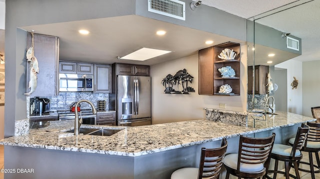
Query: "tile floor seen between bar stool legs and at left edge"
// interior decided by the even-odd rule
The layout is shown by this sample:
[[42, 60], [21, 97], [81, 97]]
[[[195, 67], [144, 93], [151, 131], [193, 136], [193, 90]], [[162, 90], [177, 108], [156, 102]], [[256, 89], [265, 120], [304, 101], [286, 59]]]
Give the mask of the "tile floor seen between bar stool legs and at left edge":
[[[308, 161], [308, 155], [307, 153], [303, 153], [303, 161]], [[315, 157], [313, 157], [313, 159], [315, 159]], [[3, 165], [4, 165], [4, 157], [3, 157], [3, 145], [0, 145], [0, 169], [3, 169]], [[295, 175], [294, 170], [291, 168], [290, 173]], [[311, 179], [311, 175], [305, 172], [301, 172], [299, 171], [300, 174], [300, 178], [301, 179]], [[0, 179], [3, 179], [3, 173], [0, 172]], [[277, 175], [277, 179], [285, 179], [285, 177], [281, 174]], [[320, 179], [320, 173], [315, 174], [315, 179]]]

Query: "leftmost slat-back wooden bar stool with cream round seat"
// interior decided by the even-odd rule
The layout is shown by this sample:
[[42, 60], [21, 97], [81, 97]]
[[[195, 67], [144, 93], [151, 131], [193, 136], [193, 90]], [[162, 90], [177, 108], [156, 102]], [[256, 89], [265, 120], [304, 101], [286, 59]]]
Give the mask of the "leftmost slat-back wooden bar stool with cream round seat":
[[171, 179], [218, 179], [227, 144], [223, 138], [220, 148], [202, 148], [199, 168], [178, 169], [172, 173]]

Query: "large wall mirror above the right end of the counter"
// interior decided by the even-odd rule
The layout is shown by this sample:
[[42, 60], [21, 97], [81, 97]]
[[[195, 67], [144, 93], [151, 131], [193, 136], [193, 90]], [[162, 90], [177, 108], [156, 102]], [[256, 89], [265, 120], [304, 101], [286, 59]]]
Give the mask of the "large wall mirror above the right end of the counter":
[[298, 0], [247, 19], [248, 111], [265, 108], [268, 96], [275, 98], [276, 111], [312, 117], [310, 108], [320, 106], [319, 7], [320, 0]]

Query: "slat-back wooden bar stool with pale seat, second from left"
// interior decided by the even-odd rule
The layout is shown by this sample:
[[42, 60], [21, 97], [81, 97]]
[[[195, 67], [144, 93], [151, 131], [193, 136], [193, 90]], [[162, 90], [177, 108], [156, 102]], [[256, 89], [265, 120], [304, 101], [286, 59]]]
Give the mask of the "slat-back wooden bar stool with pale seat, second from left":
[[230, 174], [238, 179], [264, 178], [269, 167], [274, 136], [274, 133], [266, 138], [240, 136], [238, 153], [226, 155], [223, 159], [225, 179], [229, 179]]

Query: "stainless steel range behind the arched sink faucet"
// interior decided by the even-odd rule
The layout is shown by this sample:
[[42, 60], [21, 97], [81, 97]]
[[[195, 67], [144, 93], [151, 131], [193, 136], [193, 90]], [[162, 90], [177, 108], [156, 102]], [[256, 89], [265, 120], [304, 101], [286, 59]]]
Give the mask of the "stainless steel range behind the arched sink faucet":
[[[57, 113], [59, 120], [75, 119], [74, 112], [69, 110], [58, 110]], [[82, 118], [82, 124], [96, 125], [96, 115], [92, 113], [91, 109], [81, 109], [78, 115], [79, 118]]]

